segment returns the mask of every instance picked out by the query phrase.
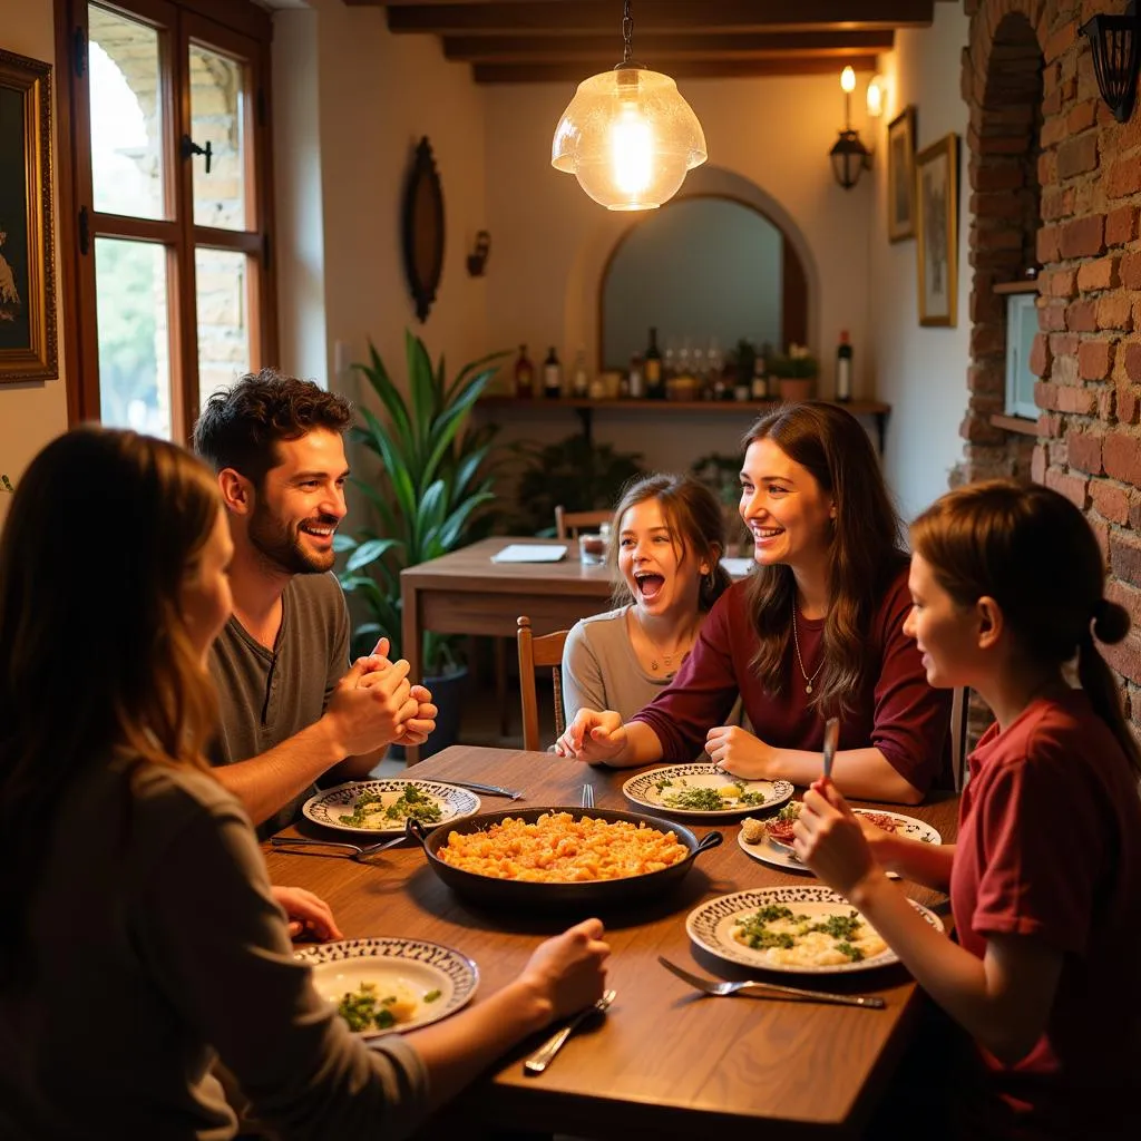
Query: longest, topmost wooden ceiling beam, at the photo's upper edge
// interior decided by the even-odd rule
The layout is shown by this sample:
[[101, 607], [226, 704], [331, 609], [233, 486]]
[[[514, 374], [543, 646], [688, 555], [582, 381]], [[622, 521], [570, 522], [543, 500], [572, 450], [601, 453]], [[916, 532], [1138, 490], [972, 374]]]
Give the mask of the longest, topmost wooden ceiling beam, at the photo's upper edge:
[[[928, 27], [934, 0], [639, 0], [634, 46], [646, 34], [873, 31]], [[438, 35], [610, 34], [621, 43], [622, 10], [615, 0], [387, 5], [393, 32]]]

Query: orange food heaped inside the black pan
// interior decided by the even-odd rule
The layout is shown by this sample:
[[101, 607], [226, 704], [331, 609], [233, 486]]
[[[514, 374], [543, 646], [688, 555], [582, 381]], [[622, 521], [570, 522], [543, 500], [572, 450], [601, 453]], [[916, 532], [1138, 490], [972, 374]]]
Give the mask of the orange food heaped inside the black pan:
[[483, 832], [453, 832], [436, 852], [451, 867], [497, 880], [591, 883], [647, 875], [680, 864], [689, 849], [672, 832], [630, 820], [544, 812], [508, 817]]

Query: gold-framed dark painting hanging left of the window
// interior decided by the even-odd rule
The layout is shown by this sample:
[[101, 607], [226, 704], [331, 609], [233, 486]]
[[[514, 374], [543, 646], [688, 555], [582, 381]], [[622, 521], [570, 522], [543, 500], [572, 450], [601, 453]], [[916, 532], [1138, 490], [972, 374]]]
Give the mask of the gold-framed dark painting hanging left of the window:
[[0, 383], [55, 380], [51, 65], [0, 51]]

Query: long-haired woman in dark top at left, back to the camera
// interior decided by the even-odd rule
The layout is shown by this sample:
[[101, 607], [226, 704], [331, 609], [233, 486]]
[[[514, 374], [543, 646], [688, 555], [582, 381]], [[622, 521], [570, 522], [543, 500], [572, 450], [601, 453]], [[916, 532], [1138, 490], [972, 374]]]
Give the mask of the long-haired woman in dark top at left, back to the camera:
[[203, 756], [232, 551], [208, 469], [133, 432], [68, 432], [16, 491], [0, 537], [5, 1138], [233, 1136], [216, 1059], [275, 1136], [404, 1135], [601, 993], [608, 948], [586, 920], [411, 1038], [366, 1049], [321, 998]]

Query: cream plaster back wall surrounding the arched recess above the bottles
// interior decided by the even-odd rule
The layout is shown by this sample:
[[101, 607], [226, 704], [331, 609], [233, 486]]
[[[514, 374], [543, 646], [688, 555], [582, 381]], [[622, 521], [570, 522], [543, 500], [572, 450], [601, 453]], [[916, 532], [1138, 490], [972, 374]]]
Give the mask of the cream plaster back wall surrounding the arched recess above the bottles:
[[[809, 339], [822, 357], [822, 394], [833, 391], [835, 345], [848, 329], [856, 394], [872, 395], [865, 343], [873, 191], [866, 179], [843, 191], [832, 176], [828, 151], [843, 126], [839, 66], [835, 75], [687, 80], [680, 89], [701, 120], [710, 155], [681, 194], [733, 194], [785, 226], [809, 276]], [[553, 343], [573, 359], [583, 345], [593, 358], [602, 269], [617, 237], [637, 225], [636, 217], [600, 208], [550, 165], [551, 135], [573, 94], [573, 84], [487, 89], [487, 341], [494, 348], [526, 342], [535, 356]], [[864, 130], [858, 102], [853, 126]], [[658, 334], [664, 342], [670, 331]], [[507, 438], [557, 439], [577, 424], [569, 412], [513, 419], [504, 412], [501, 419]], [[739, 413], [600, 413], [594, 423], [598, 439], [641, 451], [650, 467], [677, 469], [706, 452], [735, 454], [748, 422]]]

